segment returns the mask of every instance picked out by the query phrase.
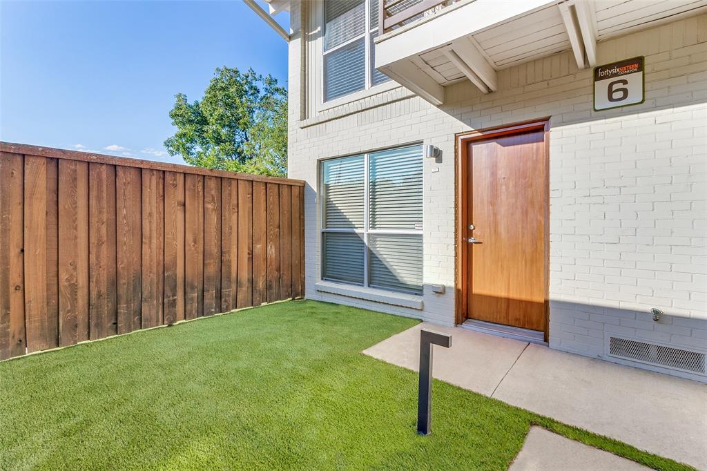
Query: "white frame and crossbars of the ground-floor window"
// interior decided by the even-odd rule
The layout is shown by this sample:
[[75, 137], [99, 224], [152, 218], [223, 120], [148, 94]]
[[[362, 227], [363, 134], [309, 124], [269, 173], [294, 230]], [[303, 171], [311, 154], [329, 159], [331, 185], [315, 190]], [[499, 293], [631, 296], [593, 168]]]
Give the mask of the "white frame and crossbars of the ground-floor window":
[[[347, 285], [347, 286], [363, 286], [364, 288], [370, 288], [370, 289], [381, 289], [385, 291], [392, 291], [394, 293], [407, 293], [407, 294], [414, 294], [414, 295], [421, 295], [422, 291], [418, 293], [411, 293], [410, 291], [404, 291], [404, 290], [397, 290], [397, 289], [391, 289], [391, 288], [382, 288], [380, 286], [370, 286], [368, 282], [368, 272], [370, 272], [370, 248], [368, 247], [368, 236], [373, 235], [384, 235], [384, 236], [420, 236], [421, 239], [423, 238], [423, 231], [422, 229], [420, 230], [392, 230], [392, 229], [371, 229], [370, 228], [370, 221], [369, 221], [369, 216], [370, 216], [370, 154], [376, 153], [379, 151], [387, 151], [391, 149], [403, 149], [405, 147], [411, 147], [411, 146], [419, 146], [422, 145], [421, 142], [416, 142], [412, 144], [405, 144], [403, 146], [395, 146], [395, 147], [386, 147], [382, 149], [376, 149], [375, 151], [368, 151], [366, 153], [352, 153], [349, 156], [338, 156], [338, 157], [330, 157], [330, 158], [322, 158], [320, 159], [318, 165], [319, 165], [319, 194], [322, 195], [321, 198], [319, 198], [320, 201], [320, 207], [319, 207], [319, 217], [320, 221], [320, 236], [319, 236], [319, 243], [320, 243], [320, 277], [319, 279], [321, 281], [329, 281], [329, 283], [337, 283], [337, 284], [342, 284], [342, 285]], [[335, 161], [340, 158], [347, 158], [347, 157], [356, 157], [356, 156], [361, 156], [363, 155], [363, 229], [327, 229], [324, 227], [325, 225], [325, 198], [326, 194], [324, 193], [324, 164], [327, 161]], [[424, 188], [424, 184], [423, 184]], [[424, 221], [424, 210], [423, 210], [423, 216], [422, 219]], [[349, 281], [341, 281], [338, 279], [330, 279], [330, 278], [325, 278], [324, 275], [324, 234], [325, 233], [349, 233], [349, 234], [360, 234], [363, 236], [363, 285], [358, 284], [358, 283], [351, 283]], [[422, 239], [423, 240], [423, 239]], [[424, 243], [423, 243], [424, 247]], [[424, 252], [423, 252], [423, 260], [424, 260]], [[424, 269], [423, 269], [424, 271]]]

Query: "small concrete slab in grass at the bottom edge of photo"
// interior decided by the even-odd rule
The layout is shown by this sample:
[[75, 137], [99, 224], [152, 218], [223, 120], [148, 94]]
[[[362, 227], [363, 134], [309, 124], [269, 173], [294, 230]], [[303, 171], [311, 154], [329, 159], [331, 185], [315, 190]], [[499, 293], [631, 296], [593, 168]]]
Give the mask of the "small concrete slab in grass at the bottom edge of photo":
[[509, 471], [641, 471], [639, 465], [607, 451], [570, 440], [540, 427], [530, 427], [523, 448], [508, 468]]

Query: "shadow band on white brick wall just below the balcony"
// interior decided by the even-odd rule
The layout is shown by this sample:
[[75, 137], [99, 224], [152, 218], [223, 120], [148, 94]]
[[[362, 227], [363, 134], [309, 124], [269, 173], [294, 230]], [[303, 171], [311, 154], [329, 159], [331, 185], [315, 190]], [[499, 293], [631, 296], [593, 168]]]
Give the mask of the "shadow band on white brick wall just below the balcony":
[[[595, 111], [593, 69], [578, 69], [572, 52], [566, 51], [498, 71], [498, 91], [493, 93], [481, 93], [470, 81], [447, 86], [445, 103], [438, 108], [469, 129], [484, 129], [544, 117], [551, 117], [552, 127], [571, 126], [633, 115], [647, 117], [645, 114], [648, 112], [707, 103], [704, 79], [700, 75], [703, 73], [703, 67], [698, 62], [700, 59], [684, 62], [689, 65], [681, 62], [683, 66], [679, 68], [669, 67], [663, 63], [670, 58], [662, 50], [651, 51], [650, 48], [655, 47], [653, 44], [638, 47], [638, 51], [626, 52], [619, 57], [612, 49], [616, 41], [609, 40], [598, 45], [599, 62], [606, 64], [626, 57], [645, 56], [645, 99], [641, 104]], [[695, 45], [699, 44], [707, 50], [707, 43]], [[695, 45], [684, 47], [694, 48]], [[689, 54], [678, 54], [691, 60]], [[556, 66], [557, 63], [565, 66]], [[684, 70], [690, 66], [694, 71]], [[535, 74], [538, 69], [539, 74]], [[549, 76], [548, 69], [551, 69]], [[540, 79], [531, 79], [534, 76], [540, 76]], [[543, 87], [543, 83], [546, 86]]]

